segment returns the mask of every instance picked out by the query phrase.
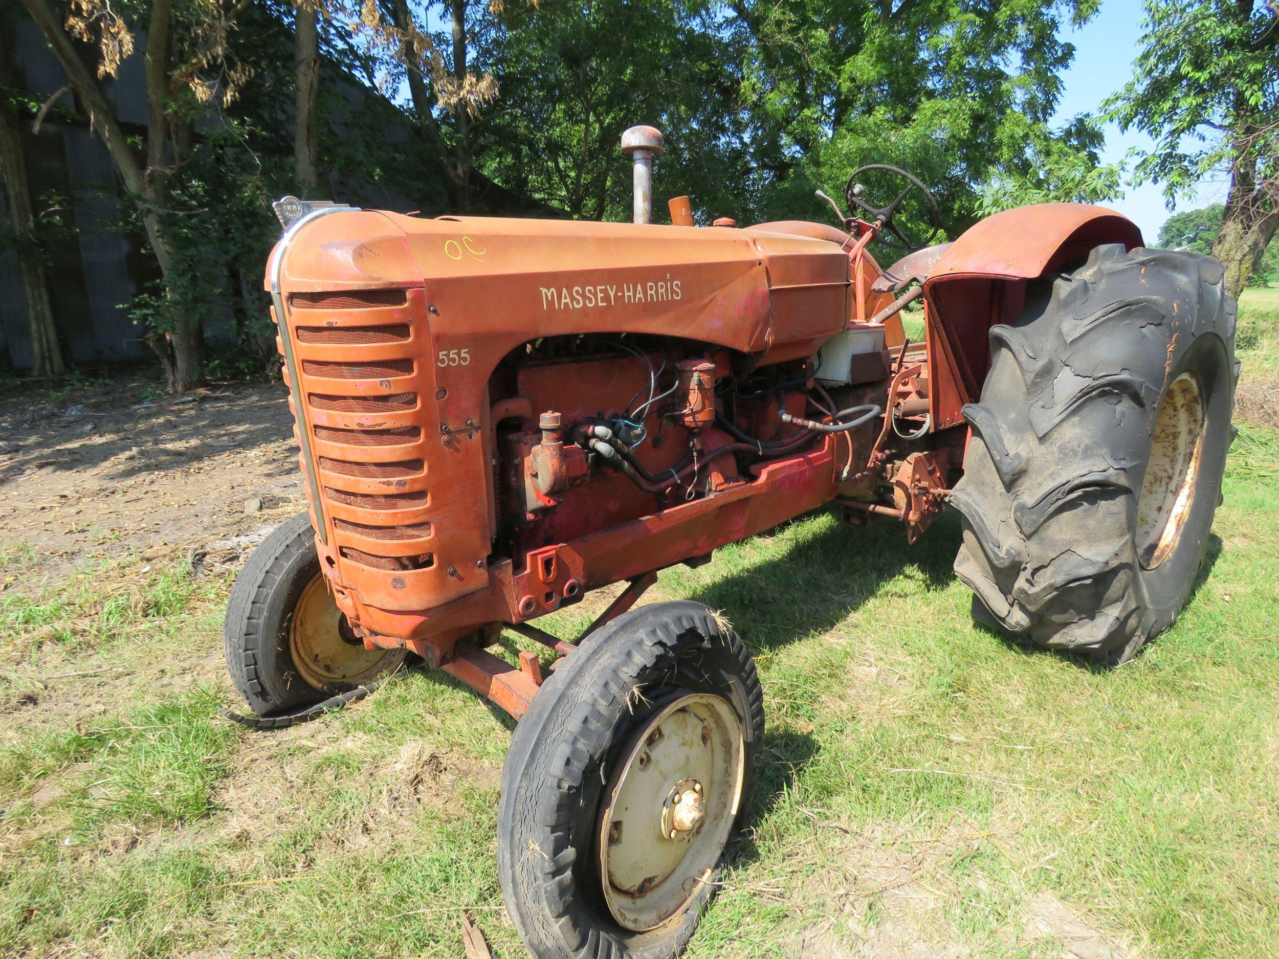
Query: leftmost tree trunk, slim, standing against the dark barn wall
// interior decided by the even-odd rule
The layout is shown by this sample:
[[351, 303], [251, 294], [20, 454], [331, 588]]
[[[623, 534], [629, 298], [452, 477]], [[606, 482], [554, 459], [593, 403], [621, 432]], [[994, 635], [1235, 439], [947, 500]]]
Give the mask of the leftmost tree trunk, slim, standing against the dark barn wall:
[[[12, 86], [13, 37], [0, 20], [0, 84]], [[33, 376], [61, 376], [65, 372], [63, 353], [54, 327], [54, 307], [49, 299], [49, 277], [40, 258], [36, 239], [36, 217], [31, 208], [31, 184], [27, 180], [27, 157], [22, 152], [22, 121], [0, 98], [0, 174], [9, 198], [9, 219], [18, 239], [18, 269], [22, 293], [27, 300], [27, 326], [31, 330], [31, 372]]]

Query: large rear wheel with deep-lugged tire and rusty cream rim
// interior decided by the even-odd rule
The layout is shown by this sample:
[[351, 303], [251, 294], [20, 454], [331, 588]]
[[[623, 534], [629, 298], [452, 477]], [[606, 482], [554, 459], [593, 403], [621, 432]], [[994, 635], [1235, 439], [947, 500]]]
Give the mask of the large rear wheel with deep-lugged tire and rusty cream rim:
[[950, 497], [978, 620], [1118, 665], [1177, 619], [1233, 436], [1221, 280], [1196, 253], [1097, 247], [991, 329]]

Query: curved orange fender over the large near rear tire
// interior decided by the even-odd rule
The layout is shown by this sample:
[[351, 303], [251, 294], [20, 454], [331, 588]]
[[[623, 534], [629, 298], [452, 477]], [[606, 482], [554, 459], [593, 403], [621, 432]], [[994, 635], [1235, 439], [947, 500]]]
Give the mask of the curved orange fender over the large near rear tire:
[[1140, 247], [1141, 230], [1105, 207], [1039, 203], [987, 216], [952, 244], [923, 285], [935, 428], [962, 423], [981, 395], [990, 327], [1021, 315], [1026, 284], [1104, 243]]

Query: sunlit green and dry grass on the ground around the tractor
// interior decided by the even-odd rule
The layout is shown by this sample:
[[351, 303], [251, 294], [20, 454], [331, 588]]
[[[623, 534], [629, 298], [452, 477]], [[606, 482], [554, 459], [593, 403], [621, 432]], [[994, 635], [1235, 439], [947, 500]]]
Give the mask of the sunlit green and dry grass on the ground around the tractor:
[[[689, 955], [1056, 959], [1045, 903], [1143, 956], [1273, 954], [1279, 432], [1241, 430], [1193, 598], [1118, 671], [976, 628], [957, 546], [953, 515], [912, 547], [819, 514], [663, 573], [654, 598], [723, 610], [752, 646], [769, 717]], [[230, 725], [225, 591], [123, 563], [4, 593], [0, 955], [451, 958], [463, 908], [526, 955], [495, 869], [510, 722], [408, 673], [307, 726]]]

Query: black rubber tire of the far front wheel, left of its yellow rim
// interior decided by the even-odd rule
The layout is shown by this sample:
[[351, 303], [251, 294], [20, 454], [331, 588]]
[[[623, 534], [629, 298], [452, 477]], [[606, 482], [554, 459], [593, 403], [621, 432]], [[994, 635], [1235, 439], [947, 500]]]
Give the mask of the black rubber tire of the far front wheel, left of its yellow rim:
[[223, 628], [226, 667], [258, 716], [311, 706], [329, 696], [298, 674], [289, 650], [293, 611], [320, 573], [313, 537], [307, 514], [285, 520], [257, 545], [231, 587]]

